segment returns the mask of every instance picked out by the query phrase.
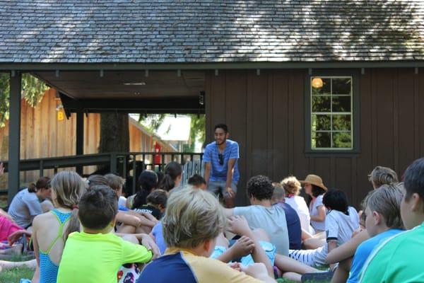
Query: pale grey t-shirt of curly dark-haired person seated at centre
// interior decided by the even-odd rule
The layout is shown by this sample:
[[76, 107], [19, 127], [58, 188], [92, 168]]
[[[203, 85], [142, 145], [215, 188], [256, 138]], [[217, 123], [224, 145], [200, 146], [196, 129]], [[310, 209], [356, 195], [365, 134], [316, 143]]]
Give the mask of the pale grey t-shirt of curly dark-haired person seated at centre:
[[277, 248], [277, 253], [288, 255], [288, 229], [285, 221], [285, 212], [281, 207], [264, 207], [250, 205], [249, 207], [235, 207], [234, 215], [245, 216], [250, 229], [264, 229], [271, 243]]

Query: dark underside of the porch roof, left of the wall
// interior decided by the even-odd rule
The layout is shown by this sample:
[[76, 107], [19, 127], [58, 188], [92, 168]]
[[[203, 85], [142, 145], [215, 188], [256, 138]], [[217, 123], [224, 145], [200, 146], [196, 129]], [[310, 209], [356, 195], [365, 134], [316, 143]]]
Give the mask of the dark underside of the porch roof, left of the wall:
[[204, 71], [35, 71], [61, 93], [84, 99], [198, 98]]

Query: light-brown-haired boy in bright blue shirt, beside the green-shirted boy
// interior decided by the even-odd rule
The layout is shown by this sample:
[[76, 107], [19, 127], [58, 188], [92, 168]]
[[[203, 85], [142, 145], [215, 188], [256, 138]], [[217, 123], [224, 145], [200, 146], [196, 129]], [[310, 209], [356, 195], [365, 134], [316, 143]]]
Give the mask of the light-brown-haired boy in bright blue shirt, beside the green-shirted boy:
[[403, 231], [401, 219], [402, 192], [399, 187], [382, 185], [371, 191], [365, 198], [365, 226], [370, 239], [361, 243], [353, 257], [349, 283], [358, 282], [360, 270], [372, 250], [379, 243]]

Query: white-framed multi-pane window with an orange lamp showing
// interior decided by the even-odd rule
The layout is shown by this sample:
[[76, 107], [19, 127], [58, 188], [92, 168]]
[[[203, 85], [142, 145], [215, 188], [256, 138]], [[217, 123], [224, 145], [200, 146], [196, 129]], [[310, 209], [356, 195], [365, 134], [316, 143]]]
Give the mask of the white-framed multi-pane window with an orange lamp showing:
[[353, 77], [311, 76], [312, 150], [353, 149]]

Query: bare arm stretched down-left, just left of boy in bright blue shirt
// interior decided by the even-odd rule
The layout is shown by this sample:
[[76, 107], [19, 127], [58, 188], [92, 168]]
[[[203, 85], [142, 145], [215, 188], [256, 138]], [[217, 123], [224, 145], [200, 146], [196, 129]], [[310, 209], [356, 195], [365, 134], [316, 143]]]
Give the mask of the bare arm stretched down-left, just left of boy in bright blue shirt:
[[334, 250], [329, 250], [329, 253], [326, 255], [326, 262], [336, 263], [353, 257], [353, 255], [355, 255], [356, 248], [358, 248], [360, 243], [369, 238], [370, 236], [366, 230], [360, 231], [360, 233], [358, 233], [346, 243], [343, 243], [343, 245], [334, 248]]

